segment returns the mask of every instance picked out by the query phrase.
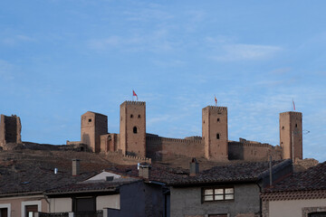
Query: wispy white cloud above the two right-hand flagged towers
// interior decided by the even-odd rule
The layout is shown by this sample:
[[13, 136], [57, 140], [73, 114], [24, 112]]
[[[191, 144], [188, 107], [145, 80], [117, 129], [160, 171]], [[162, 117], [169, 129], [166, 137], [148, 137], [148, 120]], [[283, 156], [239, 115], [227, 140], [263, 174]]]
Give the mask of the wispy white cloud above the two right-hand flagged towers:
[[222, 46], [222, 54], [214, 57], [216, 61], [260, 61], [273, 57], [283, 49], [278, 46], [259, 44], [226, 44]]

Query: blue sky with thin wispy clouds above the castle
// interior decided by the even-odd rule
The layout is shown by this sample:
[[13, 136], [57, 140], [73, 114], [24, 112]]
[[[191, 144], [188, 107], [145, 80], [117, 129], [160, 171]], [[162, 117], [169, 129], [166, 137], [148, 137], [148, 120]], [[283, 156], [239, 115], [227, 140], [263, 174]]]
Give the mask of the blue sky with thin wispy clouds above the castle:
[[279, 113], [303, 115], [303, 157], [326, 160], [326, 2], [2, 0], [0, 113], [24, 141], [80, 139], [80, 117], [147, 103], [147, 131], [201, 136], [228, 108], [229, 139], [279, 144]]

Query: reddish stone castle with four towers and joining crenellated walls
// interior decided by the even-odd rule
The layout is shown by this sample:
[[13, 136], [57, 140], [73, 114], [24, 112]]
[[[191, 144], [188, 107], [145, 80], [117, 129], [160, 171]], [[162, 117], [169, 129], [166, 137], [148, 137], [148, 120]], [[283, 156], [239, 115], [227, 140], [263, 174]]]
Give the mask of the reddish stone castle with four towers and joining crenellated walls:
[[227, 108], [202, 109], [202, 137], [168, 138], [146, 132], [146, 103], [125, 101], [120, 105], [120, 134], [108, 133], [108, 118], [88, 111], [81, 119], [81, 141], [95, 153], [121, 152], [124, 156], [162, 159], [164, 156], [205, 157], [212, 161], [266, 161], [302, 159], [302, 113], [280, 114], [280, 146], [240, 138], [228, 140]]

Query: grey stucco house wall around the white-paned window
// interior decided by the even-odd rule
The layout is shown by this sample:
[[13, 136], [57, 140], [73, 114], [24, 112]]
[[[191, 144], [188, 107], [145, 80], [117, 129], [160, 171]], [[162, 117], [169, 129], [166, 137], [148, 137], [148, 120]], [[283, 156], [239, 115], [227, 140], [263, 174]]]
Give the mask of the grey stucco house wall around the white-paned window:
[[205, 216], [206, 214], [260, 212], [259, 187], [256, 184], [236, 184], [235, 200], [201, 203], [201, 187], [171, 188], [171, 217]]

